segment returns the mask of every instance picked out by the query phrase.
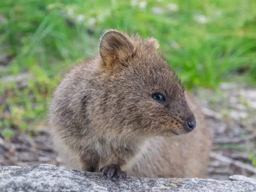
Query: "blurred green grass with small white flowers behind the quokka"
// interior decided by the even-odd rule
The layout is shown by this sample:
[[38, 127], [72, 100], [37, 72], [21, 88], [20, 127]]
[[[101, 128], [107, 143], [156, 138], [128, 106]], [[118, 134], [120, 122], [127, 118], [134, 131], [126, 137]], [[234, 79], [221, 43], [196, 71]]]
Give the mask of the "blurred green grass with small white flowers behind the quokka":
[[[0, 127], [8, 136], [6, 128], [25, 130], [45, 117], [61, 72], [94, 54], [107, 28], [158, 39], [188, 89], [216, 88], [235, 79], [238, 68], [247, 68], [242, 80], [256, 82], [254, 0], [2, 0], [0, 13], [7, 18], [0, 22], [0, 51], [14, 57], [0, 75], [31, 74], [22, 90], [0, 80], [0, 94], [8, 94]], [[71, 26], [67, 18], [77, 22]]]

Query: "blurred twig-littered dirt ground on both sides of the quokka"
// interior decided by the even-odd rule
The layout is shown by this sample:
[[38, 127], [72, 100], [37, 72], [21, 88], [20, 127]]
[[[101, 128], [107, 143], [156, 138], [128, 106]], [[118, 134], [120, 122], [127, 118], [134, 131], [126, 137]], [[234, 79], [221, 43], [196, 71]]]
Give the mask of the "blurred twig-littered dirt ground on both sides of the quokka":
[[[219, 93], [206, 89], [193, 93], [213, 130], [208, 178], [225, 180], [234, 174], [255, 177], [250, 158], [256, 158], [256, 88], [223, 83]], [[38, 135], [19, 133], [9, 140], [0, 137], [1, 166], [49, 163], [63, 167], [52, 149], [49, 127], [42, 123], [35, 129]]]

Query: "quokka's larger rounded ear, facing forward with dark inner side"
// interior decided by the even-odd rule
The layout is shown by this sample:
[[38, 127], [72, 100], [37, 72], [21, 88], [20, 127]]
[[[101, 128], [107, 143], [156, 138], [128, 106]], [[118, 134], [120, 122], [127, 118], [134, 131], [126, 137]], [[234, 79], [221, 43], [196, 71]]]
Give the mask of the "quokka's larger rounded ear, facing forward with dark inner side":
[[125, 61], [132, 57], [133, 51], [132, 42], [119, 31], [109, 30], [101, 38], [99, 52], [107, 66], [117, 63], [125, 65]]

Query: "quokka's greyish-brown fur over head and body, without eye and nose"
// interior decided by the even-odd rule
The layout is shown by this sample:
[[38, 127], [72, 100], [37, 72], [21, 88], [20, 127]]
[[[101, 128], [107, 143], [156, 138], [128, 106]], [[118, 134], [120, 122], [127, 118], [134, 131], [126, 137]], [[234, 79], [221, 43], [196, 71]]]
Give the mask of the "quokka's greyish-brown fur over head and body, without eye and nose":
[[[63, 77], [53, 93], [49, 122], [67, 168], [100, 170], [118, 179], [125, 172], [205, 177], [210, 129], [158, 46], [154, 38], [109, 30], [99, 53]], [[155, 92], [166, 102], [154, 100]], [[191, 133], [188, 118], [196, 119]]]

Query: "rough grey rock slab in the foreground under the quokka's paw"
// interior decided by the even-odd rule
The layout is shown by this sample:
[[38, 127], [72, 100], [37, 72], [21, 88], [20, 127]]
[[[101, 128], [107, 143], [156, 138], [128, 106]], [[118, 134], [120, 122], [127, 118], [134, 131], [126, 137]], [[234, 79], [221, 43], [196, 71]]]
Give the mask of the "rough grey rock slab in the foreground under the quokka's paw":
[[172, 192], [253, 192], [256, 179], [234, 175], [228, 180], [213, 179], [149, 179], [129, 177], [119, 184], [115, 179], [100, 179], [97, 173], [61, 169], [54, 165], [0, 167], [0, 191], [172, 191]]

